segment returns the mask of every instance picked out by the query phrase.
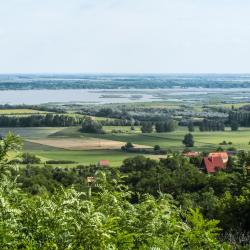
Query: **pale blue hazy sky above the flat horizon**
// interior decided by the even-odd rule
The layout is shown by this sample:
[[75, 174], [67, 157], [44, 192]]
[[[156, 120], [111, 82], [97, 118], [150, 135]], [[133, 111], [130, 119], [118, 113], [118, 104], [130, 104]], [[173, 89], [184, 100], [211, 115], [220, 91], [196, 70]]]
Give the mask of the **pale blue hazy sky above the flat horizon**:
[[0, 73], [250, 73], [249, 0], [0, 0]]

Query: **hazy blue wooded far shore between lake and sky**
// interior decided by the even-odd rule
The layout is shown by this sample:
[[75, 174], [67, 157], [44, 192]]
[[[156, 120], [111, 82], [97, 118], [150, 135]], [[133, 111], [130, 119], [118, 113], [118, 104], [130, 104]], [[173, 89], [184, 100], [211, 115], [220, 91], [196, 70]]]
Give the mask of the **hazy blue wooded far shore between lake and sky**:
[[0, 75], [0, 90], [250, 88], [250, 75]]

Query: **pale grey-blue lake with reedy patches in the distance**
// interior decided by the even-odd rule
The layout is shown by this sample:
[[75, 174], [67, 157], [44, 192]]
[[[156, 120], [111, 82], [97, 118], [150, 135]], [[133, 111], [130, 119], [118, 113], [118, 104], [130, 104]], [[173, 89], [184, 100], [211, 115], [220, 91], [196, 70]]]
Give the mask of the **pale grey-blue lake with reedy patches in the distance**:
[[2, 90], [0, 104], [178, 102], [202, 100], [208, 96], [250, 101], [250, 88]]

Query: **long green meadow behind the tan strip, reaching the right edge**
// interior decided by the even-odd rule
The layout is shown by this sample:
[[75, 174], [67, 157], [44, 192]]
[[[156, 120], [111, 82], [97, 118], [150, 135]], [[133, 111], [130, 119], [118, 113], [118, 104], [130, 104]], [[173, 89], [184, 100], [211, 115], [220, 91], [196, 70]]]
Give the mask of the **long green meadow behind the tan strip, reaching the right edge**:
[[[131, 130], [130, 127], [124, 126], [121, 128], [122, 133], [111, 133], [114, 127], [104, 127], [105, 134], [86, 134], [79, 132], [79, 128], [65, 128], [51, 134], [50, 137], [94, 137], [98, 139], [132, 142], [135, 144], [155, 146], [159, 145], [163, 149], [171, 149], [174, 151], [182, 151], [185, 147], [182, 144], [183, 137], [188, 133], [187, 128], [179, 127], [176, 131], [170, 133], [146, 133], [142, 134], [139, 127], [135, 127], [135, 130]], [[200, 132], [196, 128], [195, 132], [192, 132], [195, 140], [195, 146], [193, 150], [215, 150], [223, 141], [232, 142], [232, 145], [227, 147], [236, 147], [237, 149], [250, 150], [250, 128], [240, 128], [238, 131], [231, 131], [226, 128], [225, 131], [217, 132]]]

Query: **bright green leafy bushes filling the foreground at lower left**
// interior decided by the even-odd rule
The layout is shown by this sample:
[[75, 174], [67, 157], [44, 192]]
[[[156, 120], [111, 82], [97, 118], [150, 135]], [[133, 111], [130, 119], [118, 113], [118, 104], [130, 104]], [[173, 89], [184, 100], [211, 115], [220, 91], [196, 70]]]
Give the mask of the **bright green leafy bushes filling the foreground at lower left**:
[[169, 195], [131, 202], [119, 173], [97, 172], [93, 192], [61, 187], [32, 196], [7, 160], [18, 145], [11, 134], [0, 144], [1, 249], [230, 249], [217, 239], [218, 221], [180, 210]]

